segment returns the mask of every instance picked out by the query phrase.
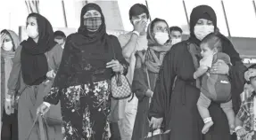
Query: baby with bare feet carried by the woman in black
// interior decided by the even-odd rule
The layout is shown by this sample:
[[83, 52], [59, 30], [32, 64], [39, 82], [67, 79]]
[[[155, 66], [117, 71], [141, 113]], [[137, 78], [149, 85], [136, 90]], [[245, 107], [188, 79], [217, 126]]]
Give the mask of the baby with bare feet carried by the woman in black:
[[202, 86], [200, 97], [197, 101], [197, 108], [204, 121], [202, 134], [206, 134], [213, 125], [208, 107], [211, 100], [220, 103], [221, 108], [227, 115], [230, 132], [235, 130], [235, 113], [232, 109], [231, 84], [228, 76], [224, 74], [210, 74], [212, 64], [219, 60], [231, 65], [230, 58], [227, 54], [222, 53], [221, 41], [217, 35], [211, 33], [207, 35], [200, 45], [202, 59], [200, 66], [194, 72], [194, 79], [202, 76]]

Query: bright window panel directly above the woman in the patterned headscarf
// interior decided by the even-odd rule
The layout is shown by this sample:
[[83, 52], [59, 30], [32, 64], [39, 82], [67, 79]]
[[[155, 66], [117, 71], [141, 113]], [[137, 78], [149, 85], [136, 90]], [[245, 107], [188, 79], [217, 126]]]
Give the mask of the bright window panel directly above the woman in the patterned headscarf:
[[186, 13], [182, 0], [148, 0], [147, 2], [152, 19], [165, 19], [169, 27], [181, 27], [187, 34]]

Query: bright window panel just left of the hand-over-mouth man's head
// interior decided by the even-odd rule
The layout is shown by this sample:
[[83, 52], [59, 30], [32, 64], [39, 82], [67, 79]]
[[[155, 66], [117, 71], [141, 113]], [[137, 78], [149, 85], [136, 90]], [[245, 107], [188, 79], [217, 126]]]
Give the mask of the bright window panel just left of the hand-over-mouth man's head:
[[145, 0], [118, 0], [118, 4], [120, 7], [120, 15], [121, 15], [122, 23], [124, 26], [124, 30], [125, 31], [133, 30], [133, 26], [130, 23], [129, 15], [128, 15], [129, 9], [134, 4], [145, 4]]

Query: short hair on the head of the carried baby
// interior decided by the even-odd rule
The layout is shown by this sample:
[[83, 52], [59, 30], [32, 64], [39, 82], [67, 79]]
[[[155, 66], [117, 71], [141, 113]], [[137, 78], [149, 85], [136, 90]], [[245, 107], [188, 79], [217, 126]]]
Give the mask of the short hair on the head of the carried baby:
[[214, 48], [217, 48], [217, 50], [219, 52], [222, 51], [222, 42], [221, 39], [219, 38], [219, 36], [217, 35], [217, 33], [211, 33], [209, 35], [206, 35], [203, 39], [202, 39], [202, 43], [206, 43], [208, 44], [208, 47], [212, 50]]

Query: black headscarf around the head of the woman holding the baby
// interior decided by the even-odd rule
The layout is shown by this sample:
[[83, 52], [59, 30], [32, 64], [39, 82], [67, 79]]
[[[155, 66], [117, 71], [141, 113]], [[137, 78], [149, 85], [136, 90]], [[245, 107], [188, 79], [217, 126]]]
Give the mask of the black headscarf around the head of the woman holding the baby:
[[194, 27], [198, 19], [209, 19], [212, 21], [214, 28], [217, 28], [217, 17], [214, 10], [208, 5], [199, 5], [193, 9], [190, 14], [190, 38], [192, 43], [199, 45], [201, 42], [194, 35]]

